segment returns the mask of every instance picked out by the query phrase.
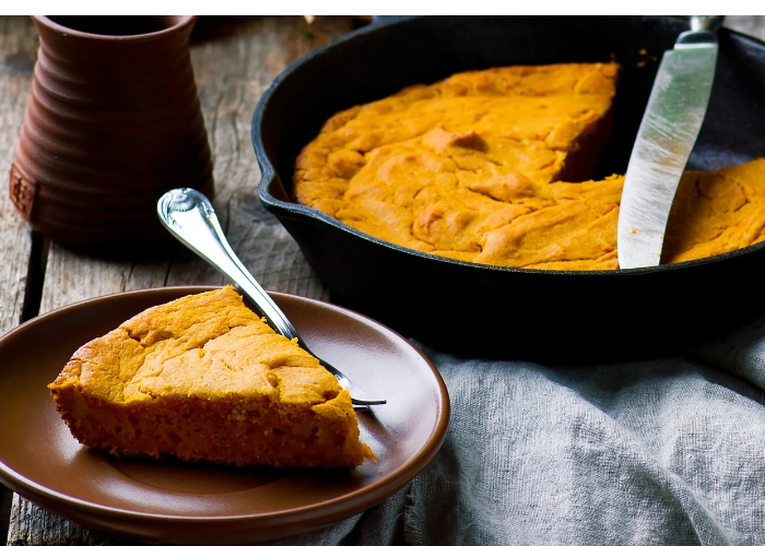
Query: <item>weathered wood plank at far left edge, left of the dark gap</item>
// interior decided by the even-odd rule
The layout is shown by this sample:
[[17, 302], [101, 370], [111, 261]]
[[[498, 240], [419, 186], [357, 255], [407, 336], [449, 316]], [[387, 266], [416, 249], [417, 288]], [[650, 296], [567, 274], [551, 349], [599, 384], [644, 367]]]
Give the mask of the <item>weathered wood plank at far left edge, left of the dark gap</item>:
[[[32, 248], [32, 232], [8, 199], [8, 176], [36, 50], [27, 17], [0, 17], [0, 332], [22, 319]], [[11, 491], [0, 485], [0, 536], [8, 532], [10, 511]]]

